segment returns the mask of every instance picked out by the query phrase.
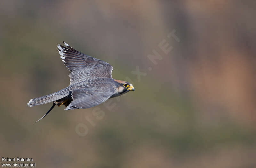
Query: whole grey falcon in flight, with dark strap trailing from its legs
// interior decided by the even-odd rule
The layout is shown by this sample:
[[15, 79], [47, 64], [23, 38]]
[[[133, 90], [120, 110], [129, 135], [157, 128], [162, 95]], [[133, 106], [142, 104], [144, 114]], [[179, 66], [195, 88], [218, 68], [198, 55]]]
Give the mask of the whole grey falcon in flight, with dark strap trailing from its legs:
[[113, 67], [109, 63], [85, 55], [66, 42], [63, 43], [66, 47], [59, 44], [57, 50], [70, 71], [70, 84], [60, 91], [29, 100], [27, 106], [30, 107], [53, 102], [52, 107], [38, 121], [55, 105], [60, 107], [64, 104], [64, 110], [90, 108], [128, 91], [134, 91], [131, 83], [112, 78]]

